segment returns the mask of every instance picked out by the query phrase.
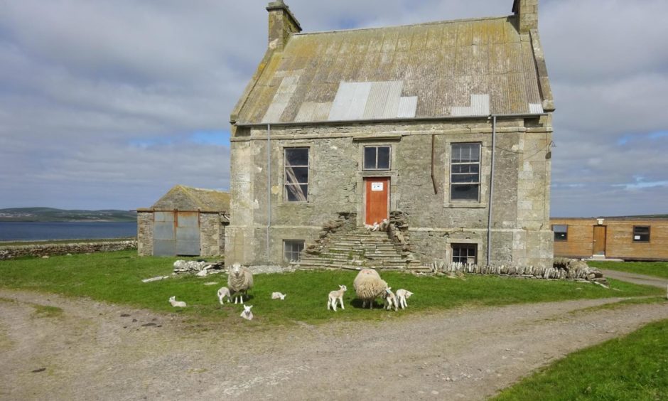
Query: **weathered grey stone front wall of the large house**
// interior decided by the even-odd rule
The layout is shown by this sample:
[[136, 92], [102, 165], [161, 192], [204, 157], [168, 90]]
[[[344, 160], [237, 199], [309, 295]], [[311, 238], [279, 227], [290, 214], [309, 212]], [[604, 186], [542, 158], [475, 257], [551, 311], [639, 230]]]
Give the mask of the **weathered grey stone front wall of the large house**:
[[[478, 260], [486, 261], [492, 171], [489, 119], [272, 127], [270, 172], [266, 133], [266, 127], [239, 129], [232, 139], [228, 262], [280, 264], [283, 240], [313, 243], [323, 224], [339, 212], [357, 213], [357, 225], [362, 225], [364, 178], [373, 176], [390, 177], [390, 210], [405, 213], [411, 243], [424, 263], [451, 258], [453, 243], [475, 243]], [[432, 141], [436, 193], [431, 179]], [[462, 142], [481, 144], [479, 203], [450, 201], [451, 145]], [[492, 262], [551, 266], [550, 143], [548, 117], [497, 122]], [[391, 169], [363, 171], [365, 145], [391, 146]], [[310, 149], [308, 203], [284, 199], [284, 148], [290, 146]]]

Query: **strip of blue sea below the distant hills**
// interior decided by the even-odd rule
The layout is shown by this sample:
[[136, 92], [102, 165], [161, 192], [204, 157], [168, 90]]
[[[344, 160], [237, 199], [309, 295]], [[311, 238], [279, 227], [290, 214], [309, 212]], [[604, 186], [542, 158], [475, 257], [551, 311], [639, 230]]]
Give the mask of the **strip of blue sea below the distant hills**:
[[0, 241], [102, 240], [136, 236], [135, 221], [0, 222]]

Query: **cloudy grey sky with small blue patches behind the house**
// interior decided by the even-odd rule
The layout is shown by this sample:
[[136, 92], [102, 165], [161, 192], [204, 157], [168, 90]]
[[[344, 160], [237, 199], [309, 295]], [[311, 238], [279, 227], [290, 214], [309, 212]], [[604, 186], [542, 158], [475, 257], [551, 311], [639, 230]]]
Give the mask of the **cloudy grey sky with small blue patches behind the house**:
[[[511, 14], [512, 0], [286, 0], [305, 32]], [[227, 190], [266, 1], [0, 0], [0, 208]], [[668, 1], [540, 0], [551, 215], [668, 213]]]

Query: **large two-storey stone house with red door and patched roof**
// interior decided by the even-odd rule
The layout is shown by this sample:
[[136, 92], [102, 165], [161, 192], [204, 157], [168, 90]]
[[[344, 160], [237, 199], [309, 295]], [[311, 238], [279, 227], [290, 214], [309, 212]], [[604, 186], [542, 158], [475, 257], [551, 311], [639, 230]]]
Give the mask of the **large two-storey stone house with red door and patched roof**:
[[266, 9], [269, 46], [230, 118], [228, 263], [298, 260], [339, 215], [352, 230], [399, 215], [422, 263], [551, 266], [538, 0], [316, 33], [283, 1]]

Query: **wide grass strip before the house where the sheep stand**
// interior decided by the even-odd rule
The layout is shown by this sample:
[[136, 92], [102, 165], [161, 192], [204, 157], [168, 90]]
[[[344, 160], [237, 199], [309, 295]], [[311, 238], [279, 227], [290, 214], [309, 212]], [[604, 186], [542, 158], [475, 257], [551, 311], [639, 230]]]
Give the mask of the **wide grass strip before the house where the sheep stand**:
[[[225, 274], [205, 278], [176, 277], [142, 283], [141, 279], [171, 274], [176, 258], [137, 257], [136, 251], [56, 256], [49, 259], [26, 257], [0, 262], [0, 287], [55, 292], [69, 296], [89, 296], [99, 301], [126, 304], [154, 311], [176, 312], [183, 316], [216, 321], [237, 319], [239, 305], [220, 306], [217, 289], [227, 285]], [[409, 289], [414, 296], [409, 308], [399, 314], [360, 309], [355, 299], [352, 271], [299, 271], [286, 274], [257, 274], [249, 292], [256, 321], [290, 324], [295, 321], [319, 323], [336, 319], [393, 319], [403, 314], [437, 311], [462, 305], [505, 305], [527, 302], [594, 299], [611, 296], [660, 296], [662, 289], [612, 281], [614, 291], [593, 284], [535, 279], [467, 276], [465, 280], [446, 277], [416, 277], [401, 272], [386, 272], [382, 277], [397, 290]], [[219, 282], [206, 286], [205, 282]], [[345, 311], [326, 310], [327, 294], [348, 286]], [[271, 292], [288, 294], [284, 301], [272, 300]], [[169, 296], [185, 301], [188, 308], [173, 309]], [[232, 320], [232, 319], [231, 319]]]

